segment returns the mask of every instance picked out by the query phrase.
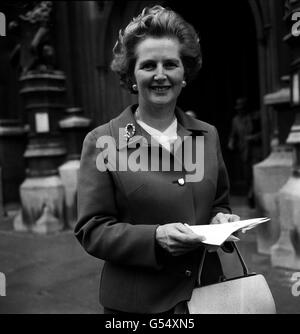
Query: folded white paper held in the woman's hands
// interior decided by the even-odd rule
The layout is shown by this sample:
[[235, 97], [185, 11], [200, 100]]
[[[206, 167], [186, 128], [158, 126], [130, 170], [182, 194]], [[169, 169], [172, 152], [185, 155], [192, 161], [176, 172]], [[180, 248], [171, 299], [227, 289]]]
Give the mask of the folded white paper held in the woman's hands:
[[237, 231], [246, 232], [258, 224], [265, 223], [269, 220], [270, 218], [254, 218], [225, 224], [185, 225], [194, 233], [204, 236], [205, 240], [203, 243], [220, 246], [232, 233]]

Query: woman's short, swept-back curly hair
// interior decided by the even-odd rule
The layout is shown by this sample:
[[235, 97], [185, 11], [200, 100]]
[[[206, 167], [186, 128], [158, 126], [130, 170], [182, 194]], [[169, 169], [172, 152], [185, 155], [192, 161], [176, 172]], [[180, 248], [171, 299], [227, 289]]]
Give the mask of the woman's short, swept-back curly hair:
[[136, 46], [147, 37], [175, 37], [181, 44], [181, 60], [185, 80], [191, 81], [202, 66], [202, 52], [199, 37], [194, 27], [176, 12], [162, 6], [144, 8], [128, 26], [119, 31], [119, 38], [113, 48], [111, 69], [120, 77], [121, 86], [131, 93], [134, 84]]

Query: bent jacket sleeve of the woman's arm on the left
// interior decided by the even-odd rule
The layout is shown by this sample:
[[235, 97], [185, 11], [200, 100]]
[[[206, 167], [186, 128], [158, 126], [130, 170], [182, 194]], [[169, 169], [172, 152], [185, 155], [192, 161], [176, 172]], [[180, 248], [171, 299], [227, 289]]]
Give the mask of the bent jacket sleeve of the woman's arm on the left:
[[115, 182], [111, 172], [96, 167], [96, 138], [89, 133], [83, 143], [78, 178], [78, 220], [75, 236], [91, 255], [118, 264], [160, 269], [156, 258], [158, 225], [133, 225], [119, 221]]

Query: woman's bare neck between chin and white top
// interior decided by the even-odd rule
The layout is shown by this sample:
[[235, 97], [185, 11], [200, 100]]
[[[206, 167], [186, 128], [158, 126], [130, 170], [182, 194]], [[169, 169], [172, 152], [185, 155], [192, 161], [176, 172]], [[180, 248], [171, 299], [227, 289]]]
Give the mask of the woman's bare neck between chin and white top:
[[175, 106], [151, 108], [139, 105], [136, 112], [139, 120], [159, 131], [164, 131], [174, 121]]

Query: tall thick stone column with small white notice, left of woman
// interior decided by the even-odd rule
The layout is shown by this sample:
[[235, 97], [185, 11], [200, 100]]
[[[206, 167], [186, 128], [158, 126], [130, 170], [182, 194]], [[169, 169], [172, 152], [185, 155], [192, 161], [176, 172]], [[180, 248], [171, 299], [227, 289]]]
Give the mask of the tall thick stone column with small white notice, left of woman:
[[65, 109], [65, 75], [58, 70], [55, 1], [34, 1], [10, 23], [19, 43], [12, 63], [20, 71], [20, 94], [29, 124], [27, 178], [20, 187], [22, 212], [17, 230], [55, 232], [65, 227], [64, 187], [58, 166], [66, 150], [58, 122]]

